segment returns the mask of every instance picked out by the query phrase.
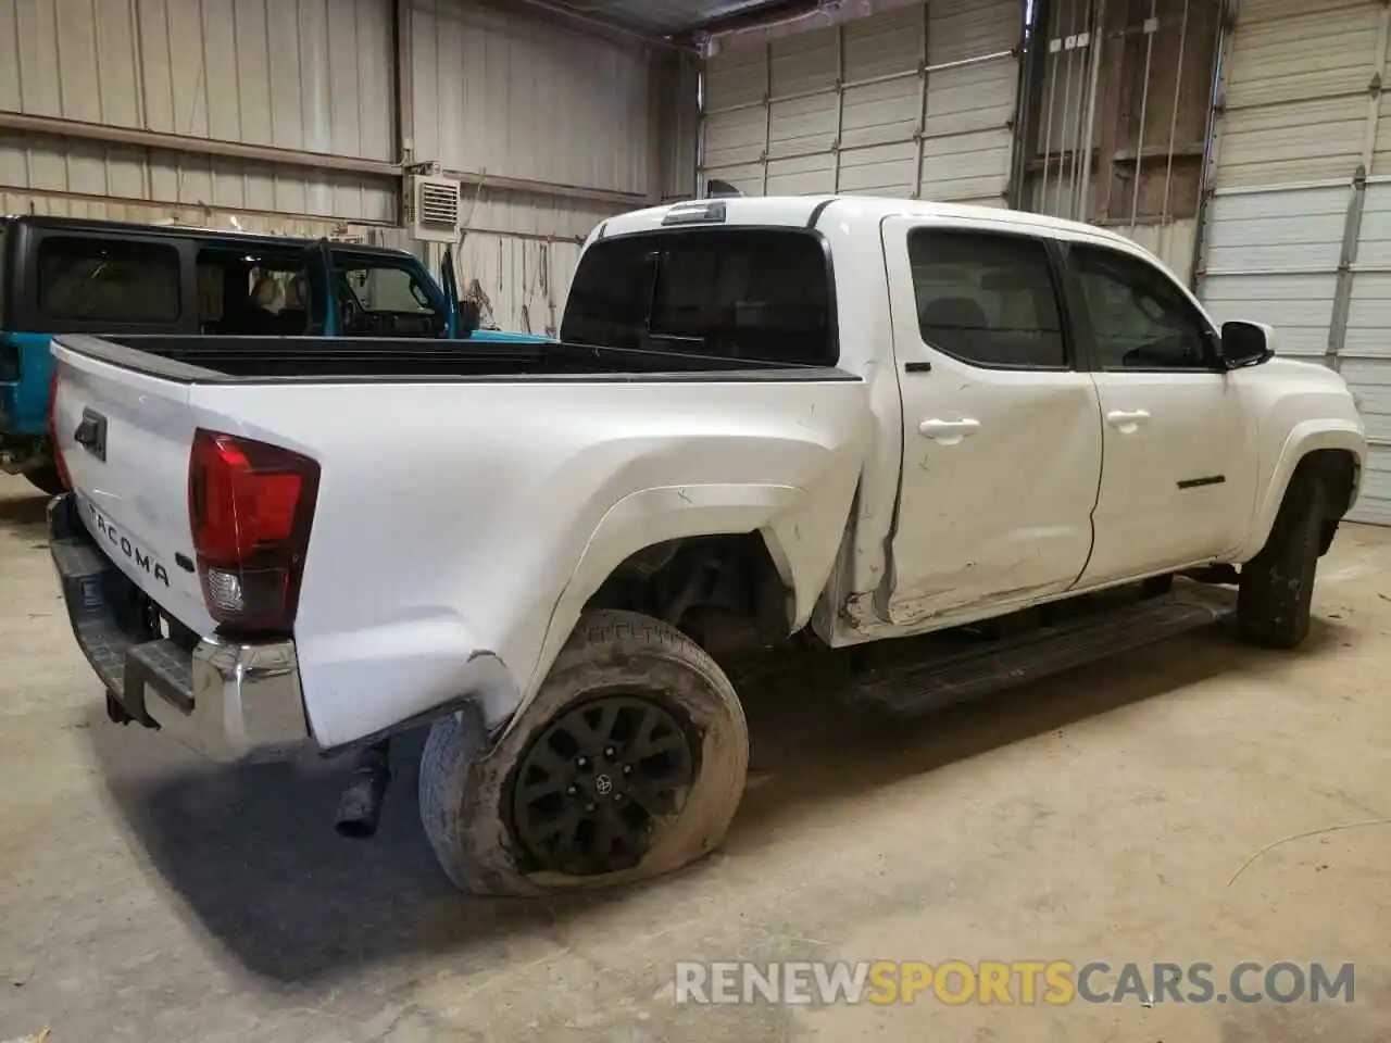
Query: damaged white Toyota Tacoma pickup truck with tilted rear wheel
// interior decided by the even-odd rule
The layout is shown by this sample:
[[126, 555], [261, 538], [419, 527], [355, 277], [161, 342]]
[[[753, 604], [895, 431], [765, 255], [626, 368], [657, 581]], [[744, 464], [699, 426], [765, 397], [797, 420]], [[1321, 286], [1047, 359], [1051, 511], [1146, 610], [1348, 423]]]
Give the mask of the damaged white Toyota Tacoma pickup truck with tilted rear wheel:
[[113, 720], [228, 759], [428, 726], [460, 887], [629, 880], [734, 815], [740, 648], [956, 636], [869, 684], [914, 712], [1223, 587], [1294, 647], [1366, 453], [1338, 374], [1024, 213], [626, 214], [561, 341], [57, 338], [53, 558]]

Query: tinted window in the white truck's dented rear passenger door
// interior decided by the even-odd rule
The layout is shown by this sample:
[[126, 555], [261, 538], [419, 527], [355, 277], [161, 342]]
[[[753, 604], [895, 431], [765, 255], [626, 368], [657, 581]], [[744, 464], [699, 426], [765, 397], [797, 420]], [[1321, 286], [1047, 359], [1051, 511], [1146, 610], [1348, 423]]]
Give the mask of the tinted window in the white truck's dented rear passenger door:
[[1038, 239], [921, 228], [908, 234], [922, 339], [974, 366], [1066, 369], [1047, 249]]

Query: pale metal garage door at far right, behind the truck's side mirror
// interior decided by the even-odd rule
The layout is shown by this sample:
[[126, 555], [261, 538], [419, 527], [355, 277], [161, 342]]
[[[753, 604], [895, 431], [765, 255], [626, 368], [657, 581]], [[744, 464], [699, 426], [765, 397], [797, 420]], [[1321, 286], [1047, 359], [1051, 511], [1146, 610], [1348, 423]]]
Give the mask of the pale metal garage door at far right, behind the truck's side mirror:
[[1199, 292], [1340, 370], [1372, 460], [1352, 517], [1391, 524], [1391, 7], [1244, 0], [1223, 50]]

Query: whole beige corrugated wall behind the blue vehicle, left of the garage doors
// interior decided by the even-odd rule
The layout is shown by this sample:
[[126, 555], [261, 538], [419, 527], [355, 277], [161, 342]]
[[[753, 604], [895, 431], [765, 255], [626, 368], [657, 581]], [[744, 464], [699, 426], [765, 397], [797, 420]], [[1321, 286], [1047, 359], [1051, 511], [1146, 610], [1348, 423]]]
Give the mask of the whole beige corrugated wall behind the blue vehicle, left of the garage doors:
[[[463, 285], [555, 325], [579, 241], [694, 191], [694, 56], [476, 0], [0, 0], [0, 211], [416, 249], [462, 177]], [[684, 157], [684, 159], [683, 159]]]

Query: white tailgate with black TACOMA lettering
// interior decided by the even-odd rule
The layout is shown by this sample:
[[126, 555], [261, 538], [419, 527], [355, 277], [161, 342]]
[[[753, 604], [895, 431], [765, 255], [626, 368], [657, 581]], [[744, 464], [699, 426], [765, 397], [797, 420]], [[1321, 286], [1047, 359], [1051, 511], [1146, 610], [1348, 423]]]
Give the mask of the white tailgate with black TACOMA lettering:
[[160, 608], [207, 634], [188, 519], [191, 385], [53, 342], [54, 437], [82, 523]]

